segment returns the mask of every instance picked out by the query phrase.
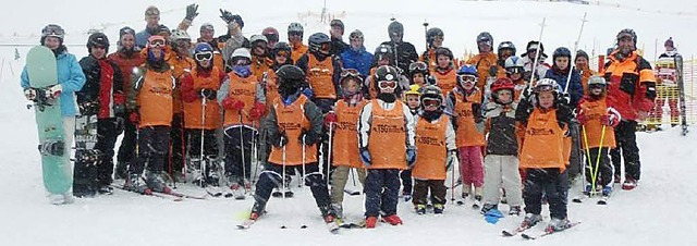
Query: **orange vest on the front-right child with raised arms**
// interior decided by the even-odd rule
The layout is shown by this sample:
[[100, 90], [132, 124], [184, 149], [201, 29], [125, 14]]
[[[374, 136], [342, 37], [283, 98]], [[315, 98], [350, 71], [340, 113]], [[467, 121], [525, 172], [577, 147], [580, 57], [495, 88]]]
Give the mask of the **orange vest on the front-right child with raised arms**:
[[565, 170], [564, 132], [557, 122], [557, 110], [533, 110], [525, 128], [521, 168]]

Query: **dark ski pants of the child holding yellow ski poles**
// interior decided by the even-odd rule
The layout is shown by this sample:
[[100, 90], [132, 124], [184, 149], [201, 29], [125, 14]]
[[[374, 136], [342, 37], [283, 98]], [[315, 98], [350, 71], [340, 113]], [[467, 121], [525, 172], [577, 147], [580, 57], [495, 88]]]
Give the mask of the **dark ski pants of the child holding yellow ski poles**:
[[[591, 148], [586, 155], [586, 181], [592, 183], [596, 179], [596, 187], [602, 187], [612, 183], [612, 165], [610, 165], [609, 148]], [[598, 159], [600, 156], [600, 159]]]

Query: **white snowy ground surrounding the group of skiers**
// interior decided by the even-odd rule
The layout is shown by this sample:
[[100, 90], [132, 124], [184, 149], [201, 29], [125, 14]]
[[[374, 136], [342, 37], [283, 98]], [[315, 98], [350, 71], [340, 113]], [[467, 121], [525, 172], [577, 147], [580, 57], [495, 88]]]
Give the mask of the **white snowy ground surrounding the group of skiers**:
[[[93, 2], [93, 1], [89, 1]], [[183, 16], [183, 7], [188, 1], [155, 1], [176, 8], [163, 15], [163, 22], [173, 23]], [[289, 2], [289, 3], [286, 3]], [[218, 22], [217, 9], [239, 9], [246, 21], [245, 30], [258, 32], [268, 25], [274, 25], [284, 33], [284, 26], [293, 20], [302, 20], [302, 11], [319, 12], [320, 1], [283, 1], [270, 10], [279, 13], [278, 19], [265, 20], [258, 8], [243, 3], [233, 8], [232, 2], [201, 4], [201, 16], [197, 22]], [[430, 1], [429, 1], [430, 2]], [[629, 1], [623, 1], [626, 3]], [[641, 1], [648, 2], [648, 1]], [[693, 4], [687, 1], [674, 1], [675, 5]], [[12, 13], [0, 16], [2, 23], [25, 20], [20, 13], [28, 13], [29, 7], [41, 5], [44, 1], [23, 1]], [[53, 1], [51, 4], [57, 4]], [[235, 1], [236, 3], [236, 1]], [[400, 3], [400, 4], [396, 4]], [[61, 3], [63, 4], [63, 3]], [[86, 13], [86, 1], [71, 1], [61, 8], [81, 10], [83, 17], [75, 17], [63, 12], [61, 15], [40, 15], [27, 20], [23, 25], [5, 25], [0, 28], [3, 41], [12, 32], [22, 34], [38, 32], [46, 23], [65, 23], [69, 29], [69, 42], [83, 44], [86, 36], [82, 33], [97, 23], [124, 22], [139, 29], [142, 11], [148, 3], [137, 1], [134, 4], [121, 2], [105, 3], [109, 11]], [[94, 3], [91, 3], [94, 4]], [[101, 3], [99, 3], [101, 4]], [[256, 3], [255, 3], [256, 4]], [[386, 26], [392, 15], [407, 26], [406, 38], [413, 40], [417, 50], [423, 51], [424, 19], [433, 26], [443, 27], [447, 33], [445, 45], [462, 53], [467, 47], [474, 47], [474, 38], [480, 30], [491, 30], [494, 42], [511, 39], [518, 46], [537, 37], [539, 29], [535, 23], [541, 16], [549, 16], [549, 29], [546, 33], [548, 49], [560, 45], [572, 45], [577, 36], [580, 16], [589, 11], [591, 22], [586, 26], [587, 35], [582, 46], [602, 47], [611, 45], [614, 34], [621, 28], [632, 26], [639, 32], [639, 42], [646, 40], [647, 48], [652, 40], [663, 40], [667, 36], [680, 37], [682, 40], [696, 39], [695, 34], [684, 30], [665, 30], [660, 22], [694, 23], [694, 17], [655, 15], [627, 10], [614, 11], [607, 8], [568, 5], [566, 3], [542, 4], [537, 2], [503, 3], [438, 1], [432, 5], [416, 8], [401, 1], [372, 1], [368, 3], [329, 2], [331, 11], [346, 11], [346, 29], [360, 28], [366, 33], [366, 42], [372, 49], [378, 41], [387, 40]], [[335, 4], [335, 5], [332, 5]], [[319, 5], [319, 8], [318, 8]], [[181, 8], [180, 8], [181, 7]], [[49, 8], [49, 7], [46, 7]], [[178, 9], [179, 8], [179, 9]], [[693, 8], [694, 9], [694, 8]], [[39, 8], [37, 13], [48, 13], [48, 9]], [[438, 11], [438, 12], [437, 12]], [[105, 13], [107, 12], [107, 13]], [[36, 15], [39, 15], [36, 14]], [[103, 14], [100, 15], [100, 14]], [[207, 15], [207, 16], [204, 16]], [[94, 20], [83, 22], [84, 20]], [[124, 21], [126, 20], [126, 21]], [[131, 20], [131, 21], [127, 21]], [[326, 30], [308, 20], [306, 37], [315, 30]], [[513, 21], [511, 21], [513, 20]], [[657, 22], [659, 20], [660, 22]], [[256, 22], [256, 23], [255, 23]], [[200, 24], [199, 23], [199, 24]], [[374, 26], [371, 26], [374, 25]], [[197, 25], [196, 25], [197, 26]], [[21, 27], [21, 28], [20, 28]], [[222, 26], [218, 26], [222, 29]], [[120, 25], [107, 28], [110, 36], [115, 37]], [[80, 29], [80, 32], [77, 32]], [[194, 28], [194, 29], [197, 29]], [[72, 30], [72, 33], [71, 33]], [[506, 33], [510, 32], [510, 33]], [[194, 32], [196, 33], [196, 32]], [[248, 34], [247, 34], [248, 35]], [[281, 39], [284, 39], [282, 34]], [[678, 39], [678, 40], [680, 40]], [[15, 40], [15, 39], [11, 39]], [[37, 37], [16, 41], [36, 44]], [[549, 41], [548, 41], [549, 40]], [[597, 40], [597, 41], [595, 41]], [[680, 44], [680, 42], [678, 42]], [[601, 47], [601, 45], [597, 45]], [[472, 49], [472, 48], [468, 48]], [[682, 49], [683, 52], [689, 47]], [[694, 47], [692, 48], [694, 51]], [[83, 47], [71, 48], [78, 58], [86, 50]], [[340, 235], [331, 235], [319, 218], [319, 212], [310, 198], [309, 189], [296, 190], [296, 198], [272, 199], [268, 205], [269, 214], [248, 231], [239, 231], [240, 223], [252, 206], [252, 199], [235, 201], [228, 199], [170, 201], [160, 198], [145, 197], [121, 190], [114, 195], [94, 199], [78, 199], [70, 206], [52, 206], [45, 198], [41, 185], [39, 156], [36, 152], [37, 137], [34, 125], [34, 113], [26, 110], [19, 87], [19, 74], [23, 60], [12, 61], [14, 49], [0, 50], [4, 59], [0, 70], [0, 245], [518, 245], [519, 237], [502, 238], [503, 229], [514, 227], [522, 218], [504, 218], [491, 225], [484, 221], [478, 211], [468, 206], [448, 205], [445, 214], [416, 216], [411, 204], [400, 204], [399, 213], [404, 220], [402, 226], [380, 224], [376, 230], [345, 230]], [[551, 52], [551, 51], [550, 51]], [[26, 54], [21, 49], [22, 57]], [[649, 53], [652, 53], [649, 52]], [[678, 136], [675, 130], [653, 134], [638, 134], [641, 149], [643, 179], [639, 187], [633, 192], [619, 190], [608, 207], [599, 207], [588, 202], [570, 204], [570, 219], [583, 223], [563, 234], [543, 238], [541, 245], [692, 245], [697, 243], [692, 233], [697, 231], [697, 189], [692, 187], [697, 176], [697, 132], [687, 137]], [[182, 190], [197, 192], [192, 186], [183, 185]], [[573, 190], [578, 190], [574, 187]], [[458, 192], [457, 192], [458, 193]], [[572, 192], [572, 194], [575, 194]], [[450, 197], [450, 194], [448, 195]], [[502, 206], [506, 211], [506, 206]], [[345, 213], [358, 220], [363, 213], [362, 197], [346, 197]], [[305, 223], [309, 227], [297, 226]], [[281, 224], [290, 225], [280, 230]], [[297, 226], [293, 226], [297, 225]], [[536, 227], [534, 231], [540, 231]]]

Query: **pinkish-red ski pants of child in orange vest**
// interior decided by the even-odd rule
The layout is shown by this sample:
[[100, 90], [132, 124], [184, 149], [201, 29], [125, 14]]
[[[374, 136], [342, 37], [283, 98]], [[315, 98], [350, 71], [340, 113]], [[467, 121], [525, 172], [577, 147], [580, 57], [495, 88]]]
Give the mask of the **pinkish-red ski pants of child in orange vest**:
[[[460, 175], [463, 187], [481, 187], [484, 185], [484, 163], [481, 162], [481, 146], [466, 146], [457, 148], [460, 152]], [[464, 189], [463, 189], [464, 190]]]

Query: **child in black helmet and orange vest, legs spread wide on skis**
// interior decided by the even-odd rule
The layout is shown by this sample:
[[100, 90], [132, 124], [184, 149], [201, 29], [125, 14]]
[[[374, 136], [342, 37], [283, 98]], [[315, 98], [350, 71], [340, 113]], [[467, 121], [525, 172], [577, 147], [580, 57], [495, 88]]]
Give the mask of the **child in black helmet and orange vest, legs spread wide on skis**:
[[304, 176], [305, 185], [310, 187], [325, 222], [333, 223], [327, 182], [319, 172], [316, 156], [322, 132], [322, 113], [301, 94], [301, 84], [305, 81], [305, 73], [301, 69], [283, 65], [276, 73], [280, 97], [264, 122], [272, 148], [268, 164], [256, 185], [249, 220], [257, 220], [264, 214], [272, 189], [285, 183], [282, 176], [286, 169], [295, 169], [307, 173]]

